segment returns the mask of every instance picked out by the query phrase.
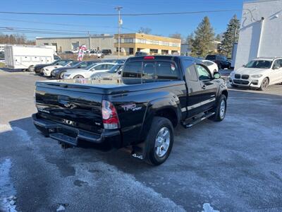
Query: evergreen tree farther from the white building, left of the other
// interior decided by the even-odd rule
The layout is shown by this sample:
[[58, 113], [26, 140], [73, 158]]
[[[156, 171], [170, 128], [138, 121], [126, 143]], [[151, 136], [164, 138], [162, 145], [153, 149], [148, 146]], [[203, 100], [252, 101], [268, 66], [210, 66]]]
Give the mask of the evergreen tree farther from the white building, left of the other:
[[206, 16], [195, 30], [195, 38], [192, 41], [191, 56], [206, 57], [209, 52], [214, 50], [214, 29], [209, 18]]

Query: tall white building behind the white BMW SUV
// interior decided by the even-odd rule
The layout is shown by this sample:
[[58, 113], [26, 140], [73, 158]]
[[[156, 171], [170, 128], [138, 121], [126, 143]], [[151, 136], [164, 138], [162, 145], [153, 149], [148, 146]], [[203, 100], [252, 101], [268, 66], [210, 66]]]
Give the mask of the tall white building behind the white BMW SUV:
[[282, 0], [243, 4], [235, 69], [255, 57], [282, 57]]

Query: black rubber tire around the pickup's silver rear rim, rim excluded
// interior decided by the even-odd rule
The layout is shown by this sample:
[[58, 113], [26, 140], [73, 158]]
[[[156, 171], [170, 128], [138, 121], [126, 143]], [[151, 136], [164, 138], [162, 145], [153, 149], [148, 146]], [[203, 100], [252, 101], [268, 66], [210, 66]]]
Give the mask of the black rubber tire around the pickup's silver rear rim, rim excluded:
[[[168, 129], [169, 131], [169, 145], [166, 153], [159, 157], [156, 153], [157, 147], [155, 147], [156, 139], [161, 129]], [[164, 117], [154, 117], [151, 129], [149, 130], [149, 134], [145, 140], [146, 143], [146, 162], [150, 165], [160, 165], [164, 163], [171, 153], [171, 148], [173, 146], [174, 135], [173, 135], [173, 125], [171, 121]]]

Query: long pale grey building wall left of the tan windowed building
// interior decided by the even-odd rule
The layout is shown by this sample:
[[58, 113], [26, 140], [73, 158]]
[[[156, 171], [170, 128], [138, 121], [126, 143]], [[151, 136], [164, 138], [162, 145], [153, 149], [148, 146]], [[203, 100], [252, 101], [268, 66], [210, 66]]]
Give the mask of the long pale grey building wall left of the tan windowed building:
[[79, 45], [86, 45], [87, 49], [111, 49], [114, 52], [114, 35], [101, 37], [47, 37], [37, 38], [36, 45], [44, 45], [56, 43], [57, 52], [70, 51], [73, 49], [73, 43], [78, 42]]

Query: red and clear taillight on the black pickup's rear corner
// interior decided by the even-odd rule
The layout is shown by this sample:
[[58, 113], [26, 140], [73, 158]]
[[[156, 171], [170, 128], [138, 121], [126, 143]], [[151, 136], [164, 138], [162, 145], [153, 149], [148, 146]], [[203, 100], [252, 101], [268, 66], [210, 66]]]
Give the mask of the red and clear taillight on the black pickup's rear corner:
[[118, 114], [111, 102], [106, 100], [102, 101], [102, 117], [104, 129], [118, 129]]

